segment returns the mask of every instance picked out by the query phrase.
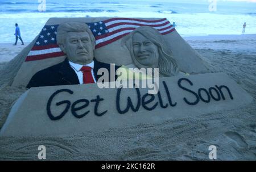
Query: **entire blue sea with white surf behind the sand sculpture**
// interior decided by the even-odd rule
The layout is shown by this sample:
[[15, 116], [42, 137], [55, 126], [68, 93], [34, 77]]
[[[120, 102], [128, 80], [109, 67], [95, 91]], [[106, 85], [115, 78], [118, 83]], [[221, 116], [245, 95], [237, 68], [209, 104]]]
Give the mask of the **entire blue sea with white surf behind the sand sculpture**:
[[[30, 42], [53, 17], [167, 18], [175, 22], [181, 36], [241, 34], [246, 22], [245, 33], [256, 33], [255, 1], [217, 1], [212, 11], [209, 6], [213, 1], [0, 0], [0, 43], [14, 42], [15, 23], [22, 39]], [[46, 9], [40, 12], [44, 2]]]

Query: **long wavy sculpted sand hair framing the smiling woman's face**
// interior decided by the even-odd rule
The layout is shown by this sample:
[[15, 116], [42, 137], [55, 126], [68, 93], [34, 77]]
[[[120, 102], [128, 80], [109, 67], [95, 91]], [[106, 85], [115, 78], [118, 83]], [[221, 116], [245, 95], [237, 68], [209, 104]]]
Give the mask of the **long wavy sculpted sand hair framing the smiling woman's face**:
[[165, 43], [163, 36], [157, 30], [149, 26], [138, 27], [122, 39], [122, 44], [125, 44], [129, 49], [135, 66], [137, 66], [139, 69], [151, 68], [151, 66], [140, 64], [135, 58], [133, 52], [133, 36], [135, 33], [140, 33], [158, 47], [158, 68], [160, 77], [174, 76], [179, 72], [179, 66], [172, 55], [171, 49], [166, 46], [167, 44]]

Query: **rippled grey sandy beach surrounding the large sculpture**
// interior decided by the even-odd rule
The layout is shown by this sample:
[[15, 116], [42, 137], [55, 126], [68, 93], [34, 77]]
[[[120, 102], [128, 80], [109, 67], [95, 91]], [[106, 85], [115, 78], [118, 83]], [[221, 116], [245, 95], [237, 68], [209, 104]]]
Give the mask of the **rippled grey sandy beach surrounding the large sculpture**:
[[[256, 99], [256, 35], [184, 37], [211, 72], [224, 72]], [[0, 74], [25, 45], [0, 44]], [[0, 86], [0, 128], [12, 104], [26, 91]], [[255, 100], [246, 107], [174, 119], [158, 124], [111, 128], [63, 137], [2, 137], [0, 160], [38, 160], [46, 145], [47, 160], [256, 160]]]

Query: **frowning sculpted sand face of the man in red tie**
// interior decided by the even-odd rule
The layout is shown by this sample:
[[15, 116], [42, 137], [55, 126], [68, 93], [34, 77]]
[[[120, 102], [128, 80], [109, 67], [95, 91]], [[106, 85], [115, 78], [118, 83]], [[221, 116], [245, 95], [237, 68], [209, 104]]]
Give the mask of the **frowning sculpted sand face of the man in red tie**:
[[93, 61], [93, 44], [88, 32], [68, 32], [61, 49], [75, 64], [85, 65]]

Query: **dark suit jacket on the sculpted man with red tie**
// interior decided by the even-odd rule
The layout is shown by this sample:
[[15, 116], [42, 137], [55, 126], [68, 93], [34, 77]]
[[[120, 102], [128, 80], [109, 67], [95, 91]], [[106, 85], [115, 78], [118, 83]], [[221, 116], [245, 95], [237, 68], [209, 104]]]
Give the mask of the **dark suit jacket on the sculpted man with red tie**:
[[[115, 66], [115, 71], [120, 66]], [[94, 59], [93, 73], [94, 78], [98, 81], [101, 75], [98, 75], [98, 69], [106, 68], [109, 71], [109, 81], [110, 81], [110, 64], [105, 64]], [[115, 79], [117, 76], [115, 75]], [[59, 64], [50, 66], [49, 68], [40, 70], [31, 78], [27, 85], [30, 87], [43, 87], [43, 86], [56, 86], [56, 85], [76, 85], [79, 84], [79, 78], [76, 72], [69, 65], [68, 58], [65, 58], [63, 62]]]

